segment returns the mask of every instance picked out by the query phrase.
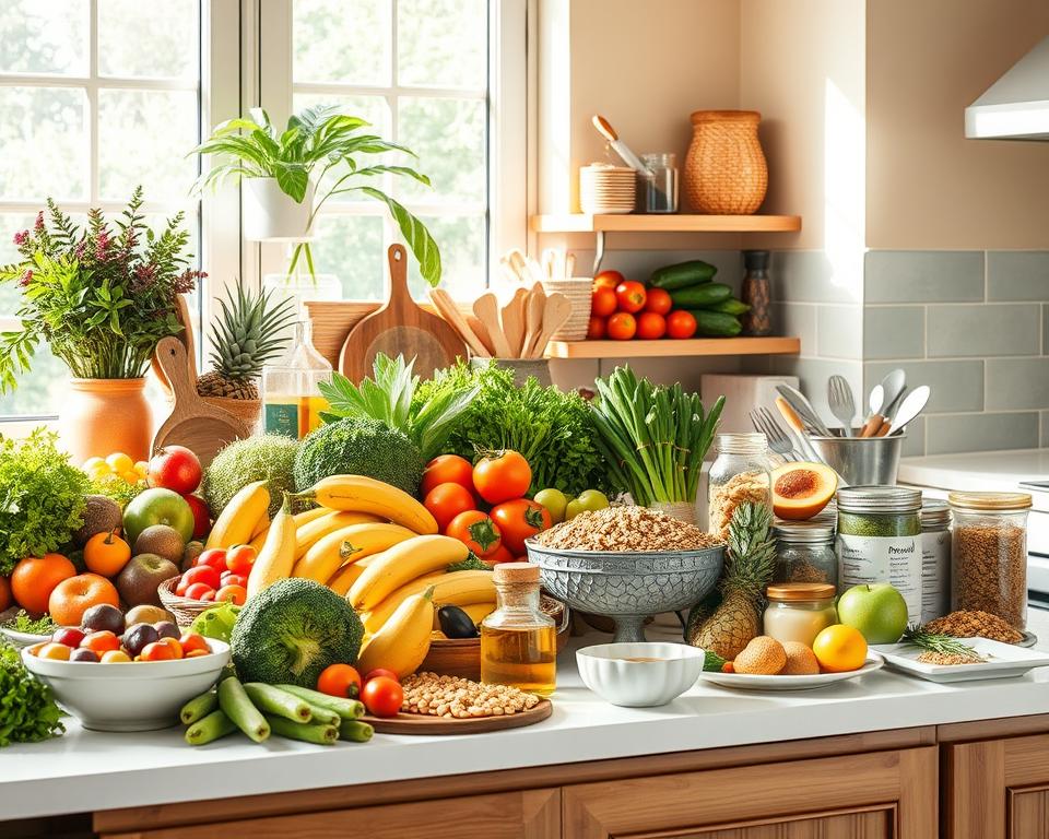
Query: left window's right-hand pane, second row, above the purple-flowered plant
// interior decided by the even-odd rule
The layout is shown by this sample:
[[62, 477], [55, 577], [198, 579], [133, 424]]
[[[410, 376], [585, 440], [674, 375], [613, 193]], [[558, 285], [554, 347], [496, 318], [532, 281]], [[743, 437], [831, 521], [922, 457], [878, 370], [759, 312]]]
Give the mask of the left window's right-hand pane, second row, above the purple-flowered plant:
[[141, 184], [148, 201], [184, 201], [197, 174], [197, 94], [98, 91], [102, 197], [122, 201]]

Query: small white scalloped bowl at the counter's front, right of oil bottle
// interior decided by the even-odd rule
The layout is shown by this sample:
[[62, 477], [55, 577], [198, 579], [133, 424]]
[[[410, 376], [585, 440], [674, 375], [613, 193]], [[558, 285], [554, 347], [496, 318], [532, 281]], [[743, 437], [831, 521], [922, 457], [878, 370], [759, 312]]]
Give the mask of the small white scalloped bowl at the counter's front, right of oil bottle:
[[667, 705], [696, 684], [703, 650], [684, 643], [599, 643], [578, 650], [576, 664], [584, 684], [606, 702], [649, 708]]

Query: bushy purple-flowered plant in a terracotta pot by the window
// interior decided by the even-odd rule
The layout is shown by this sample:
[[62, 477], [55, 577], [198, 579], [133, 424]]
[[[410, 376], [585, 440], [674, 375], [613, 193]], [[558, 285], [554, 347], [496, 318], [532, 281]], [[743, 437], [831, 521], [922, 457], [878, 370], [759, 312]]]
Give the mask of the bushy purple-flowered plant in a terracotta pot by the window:
[[14, 235], [21, 261], [0, 268], [0, 282], [22, 292], [21, 331], [0, 334], [0, 392], [14, 390], [48, 344], [73, 375], [59, 418], [74, 462], [114, 451], [149, 458], [145, 371], [157, 342], [182, 331], [176, 296], [204, 276], [189, 267], [182, 214], [154, 233], [141, 206], [139, 187], [115, 225], [94, 209], [80, 228], [48, 199], [48, 220], [42, 211]]

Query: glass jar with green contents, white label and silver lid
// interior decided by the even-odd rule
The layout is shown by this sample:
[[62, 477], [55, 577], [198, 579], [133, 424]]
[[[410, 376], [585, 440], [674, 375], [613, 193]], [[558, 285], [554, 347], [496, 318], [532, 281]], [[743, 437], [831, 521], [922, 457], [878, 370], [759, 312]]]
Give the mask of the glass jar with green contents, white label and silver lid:
[[838, 489], [838, 589], [888, 582], [921, 621], [921, 493], [903, 486]]

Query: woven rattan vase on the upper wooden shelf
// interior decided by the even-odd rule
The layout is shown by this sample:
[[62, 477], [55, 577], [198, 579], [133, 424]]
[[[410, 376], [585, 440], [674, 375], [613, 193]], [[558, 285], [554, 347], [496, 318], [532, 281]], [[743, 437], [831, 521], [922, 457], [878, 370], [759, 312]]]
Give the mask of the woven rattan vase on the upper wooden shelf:
[[710, 215], [756, 213], [768, 188], [768, 166], [757, 139], [756, 110], [697, 110], [685, 157], [684, 193], [693, 211]]

